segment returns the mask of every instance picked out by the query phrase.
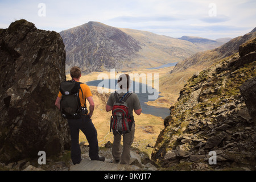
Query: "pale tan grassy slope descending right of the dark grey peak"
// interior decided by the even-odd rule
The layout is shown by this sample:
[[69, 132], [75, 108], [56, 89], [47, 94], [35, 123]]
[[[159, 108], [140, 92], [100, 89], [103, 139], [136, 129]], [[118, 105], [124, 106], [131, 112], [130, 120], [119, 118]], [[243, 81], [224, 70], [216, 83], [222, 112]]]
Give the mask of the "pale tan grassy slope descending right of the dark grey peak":
[[203, 51], [195, 44], [186, 40], [171, 38], [170, 36], [158, 35], [148, 31], [119, 28], [126, 34], [142, 43], [138, 55], [142, 61], [148, 60], [148, 67], [156, 67], [159, 64], [175, 63], [184, 60], [196, 52]]

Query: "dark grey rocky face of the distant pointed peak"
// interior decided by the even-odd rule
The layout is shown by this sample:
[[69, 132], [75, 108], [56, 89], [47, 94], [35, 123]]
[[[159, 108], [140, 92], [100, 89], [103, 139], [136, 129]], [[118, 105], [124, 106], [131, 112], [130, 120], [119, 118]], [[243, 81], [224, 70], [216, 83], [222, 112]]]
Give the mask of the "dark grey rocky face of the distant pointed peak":
[[84, 72], [123, 68], [141, 45], [118, 28], [98, 22], [61, 31], [67, 51], [67, 68], [77, 65]]

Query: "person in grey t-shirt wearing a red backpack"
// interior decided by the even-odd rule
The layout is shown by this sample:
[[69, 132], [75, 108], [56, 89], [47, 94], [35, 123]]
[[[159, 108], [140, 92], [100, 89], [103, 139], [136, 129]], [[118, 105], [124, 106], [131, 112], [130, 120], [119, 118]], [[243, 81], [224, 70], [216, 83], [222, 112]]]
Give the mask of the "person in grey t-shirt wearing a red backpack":
[[[106, 111], [112, 111], [110, 121], [110, 131], [113, 131], [114, 135], [112, 155], [114, 163], [129, 164], [131, 144], [135, 133], [133, 110], [140, 115], [142, 109], [137, 94], [129, 92], [129, 75], [119, 76], [118, 84], [121, 90], [110, 94], [106, 104]], [[120, 146], [122, 136], [123, 151]]]

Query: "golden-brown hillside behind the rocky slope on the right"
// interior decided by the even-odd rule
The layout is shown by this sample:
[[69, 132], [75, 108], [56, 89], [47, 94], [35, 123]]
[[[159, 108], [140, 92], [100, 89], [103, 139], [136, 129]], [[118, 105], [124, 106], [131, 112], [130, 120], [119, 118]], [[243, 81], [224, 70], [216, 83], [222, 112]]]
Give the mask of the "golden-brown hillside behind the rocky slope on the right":
[[[179, 97], [180, 89], [183, 88], [187, 80], [193, 75], [197, 75], [200, 71], [210, 67], [217, 61], [224, 59], [225, 57], [231, 56], [238, 52], [239, 46], [243, 43], [248, 42], [251, 39], [256, 38], [256, 28], [253, 31], [243, 36], [238, 36], [212, 50], [197, 52], [187, 59], [179, 61], [175, 68], [170, 71], [170, 74], [160, 80], [161, 92], [168, 92], [174, 95], [172, 104]], [[161, 87], [161, 85], [164, 85]]]

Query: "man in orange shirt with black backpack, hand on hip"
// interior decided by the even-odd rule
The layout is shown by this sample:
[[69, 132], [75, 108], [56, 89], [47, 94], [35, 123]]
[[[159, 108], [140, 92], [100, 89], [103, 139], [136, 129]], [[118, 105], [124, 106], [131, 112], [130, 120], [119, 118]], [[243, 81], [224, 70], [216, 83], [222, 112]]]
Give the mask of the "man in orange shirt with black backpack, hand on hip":
[[[93, 95], [86, 84], [82, 84], [81, 69], [72, 67], [70, 70], [72, 80], [64, 81], [60, 85], [60, 92], [56, 98], [55, 105], [64, 118], [68, 119], [68, 125], [71, 133], [71, 159], [73, 164], [81, 162], [81, 149], [79, 146], [79, 131], [85, 134], [89, 143], [89, 157], [91, 160], [104, 161], [104, 157], [98, 156], [97, 130], [92, 123], [94, 111]], [[75, 90], [75, 91], [74, 91]], [[73, 94], [73, 96], [72, 96]], [[74, 100], [74, 98], [77, 98]], [[89, 113], [86, 107], [86, 99], [89, 102]], [[79, 103], [79, 104], [72, 104]], [[79, 109], [73, 108], [79, 105]], [[74, 111], [75, 110], [75, 111]]]

